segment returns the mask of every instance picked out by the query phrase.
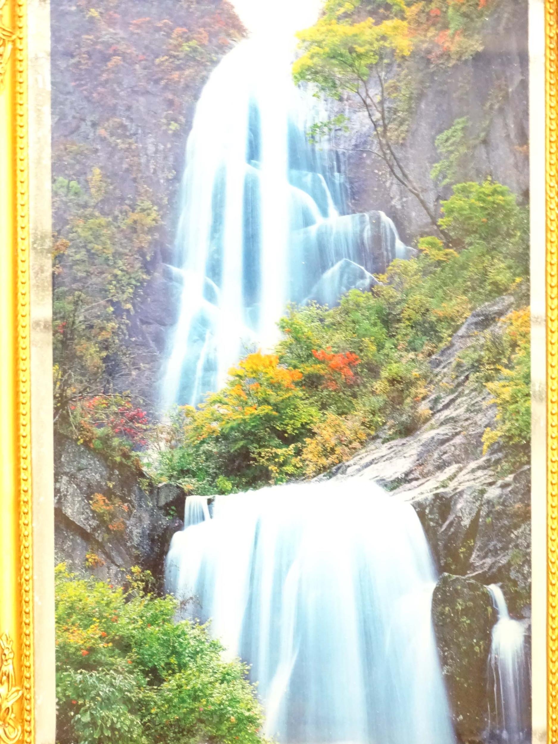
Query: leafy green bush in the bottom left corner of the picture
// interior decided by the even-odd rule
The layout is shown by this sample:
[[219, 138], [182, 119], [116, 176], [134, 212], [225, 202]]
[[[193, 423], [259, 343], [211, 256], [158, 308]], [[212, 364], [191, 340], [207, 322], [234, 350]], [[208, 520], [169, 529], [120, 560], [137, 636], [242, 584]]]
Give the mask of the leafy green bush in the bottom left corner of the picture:
[[260, 744], [263, 713], [240, 661], [207, 626], [175, 623], [138, 570], [127, 591], [59, 565], [58, 744]]

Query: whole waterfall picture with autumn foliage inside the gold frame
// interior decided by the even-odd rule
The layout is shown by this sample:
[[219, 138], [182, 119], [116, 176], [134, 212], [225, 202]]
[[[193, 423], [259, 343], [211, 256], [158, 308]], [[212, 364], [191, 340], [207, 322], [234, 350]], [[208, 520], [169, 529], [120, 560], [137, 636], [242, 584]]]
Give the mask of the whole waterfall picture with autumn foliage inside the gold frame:
[[57, 744], [530, 744], [527, 0], [51, 0]]

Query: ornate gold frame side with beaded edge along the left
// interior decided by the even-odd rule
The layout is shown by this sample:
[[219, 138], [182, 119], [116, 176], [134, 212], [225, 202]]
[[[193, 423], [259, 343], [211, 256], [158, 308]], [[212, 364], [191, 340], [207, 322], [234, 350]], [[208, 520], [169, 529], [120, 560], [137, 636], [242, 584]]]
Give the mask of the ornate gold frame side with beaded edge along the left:
[[34, 741], [27, 13], [0, 0], [0, 744]]

